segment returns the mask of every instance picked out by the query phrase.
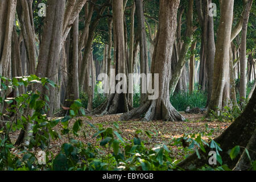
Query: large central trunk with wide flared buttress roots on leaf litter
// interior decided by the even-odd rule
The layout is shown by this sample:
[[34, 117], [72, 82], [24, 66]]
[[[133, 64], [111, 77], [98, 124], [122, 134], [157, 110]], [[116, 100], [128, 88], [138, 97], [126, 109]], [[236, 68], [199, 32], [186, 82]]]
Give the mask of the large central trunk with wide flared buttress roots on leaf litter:
[[[163, 119], [165, 121], [184, 121], [185, 118], [179, 114], [170, 103], [169, 84], [171, 78], [171, 57], [175, 32], [177, 27], [177, 9], [179, 0], [160, 0], [159, 31], [153, 54], [151, 73], [159, 74], [159, 80], [152, 81], [159, 83], [159, 96], [155, 100], [144, 100], [141, 106], [123, 114], [120, 120], [139, 118], [145, 114], [144, 119]], [[158, 89], [155, 88], [155, 89]], [[150, 96], [150, 95], [148, 95]]]

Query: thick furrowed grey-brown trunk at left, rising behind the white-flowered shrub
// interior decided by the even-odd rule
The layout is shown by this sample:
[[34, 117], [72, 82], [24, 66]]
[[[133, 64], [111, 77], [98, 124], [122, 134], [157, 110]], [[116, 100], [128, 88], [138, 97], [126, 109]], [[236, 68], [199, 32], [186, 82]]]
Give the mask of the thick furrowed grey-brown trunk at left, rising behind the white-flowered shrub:
[[[48, 0], [47, 15], [42, 34], [42, 43], [38, 57], [38, 67], [36, 75], [39, 77], [48, 77], [53, 82], [57, 82], [57, 65], [59, 65], [59, 50], [61, 43], [61, 35], [63, 32], [63, 20], [65, 1], [64, 0]], [[49, 111], [52, 115], [59, 105], [56, 105], [57, 88], [43, 89], [44, 94], [49, 94]]]

